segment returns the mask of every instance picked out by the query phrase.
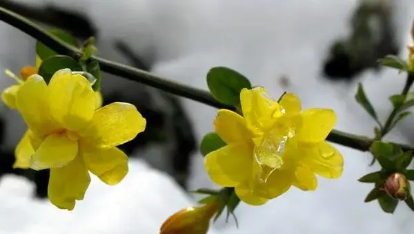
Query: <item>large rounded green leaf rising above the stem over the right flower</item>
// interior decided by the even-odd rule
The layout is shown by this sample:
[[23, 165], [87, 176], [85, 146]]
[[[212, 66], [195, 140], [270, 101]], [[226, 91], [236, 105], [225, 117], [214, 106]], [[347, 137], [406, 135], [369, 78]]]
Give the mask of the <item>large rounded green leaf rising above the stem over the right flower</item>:
[[207, 85], [210, 93], [226, 105], [240, 103], [240, 92], [243, 88], [251, 89], [248, 78], [228, 67], [213, 67], [207, 74]]

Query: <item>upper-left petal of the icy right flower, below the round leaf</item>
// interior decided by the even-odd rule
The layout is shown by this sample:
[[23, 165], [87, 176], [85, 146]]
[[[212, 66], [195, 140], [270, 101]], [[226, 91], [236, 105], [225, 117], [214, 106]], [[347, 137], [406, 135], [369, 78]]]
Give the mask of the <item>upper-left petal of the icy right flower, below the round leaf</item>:
[[239, 114], [227, 109], [220, 109], [214, 121], [215, 131], [228, 145], [236, 142], [249, 142], [250, 132], [246, 120]]

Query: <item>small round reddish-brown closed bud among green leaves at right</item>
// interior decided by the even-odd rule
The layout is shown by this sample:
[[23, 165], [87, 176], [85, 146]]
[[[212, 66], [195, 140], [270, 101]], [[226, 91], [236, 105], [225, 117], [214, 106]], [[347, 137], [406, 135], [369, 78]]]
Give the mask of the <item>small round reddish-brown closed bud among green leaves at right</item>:
[[393, 173], [384, 183], [384, 191], [392, 198], [406, 200], [410, 194], [410, 184], [402, 173]]

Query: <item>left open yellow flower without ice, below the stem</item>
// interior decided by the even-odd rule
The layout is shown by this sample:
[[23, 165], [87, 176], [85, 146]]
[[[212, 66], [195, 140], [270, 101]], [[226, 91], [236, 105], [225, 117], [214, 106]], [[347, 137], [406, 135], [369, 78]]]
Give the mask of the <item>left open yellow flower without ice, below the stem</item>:
[[106, 184], [128, 173], [128, 157], [117, 149], [144, 131], [146, 120], [134, 105], [112, 103], [95, 110], [88, 80], [69, 69], [56, 72], [49, 85], [32, 75], [16, 96], [17, 110], [28, 125], [15, 150], [15, 167], [50, 169], [48, 197], [72, 210], [90, 183], [88, 171]]

